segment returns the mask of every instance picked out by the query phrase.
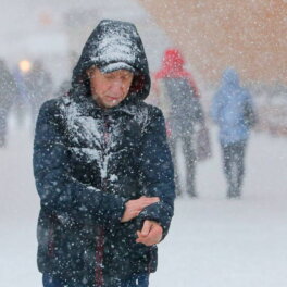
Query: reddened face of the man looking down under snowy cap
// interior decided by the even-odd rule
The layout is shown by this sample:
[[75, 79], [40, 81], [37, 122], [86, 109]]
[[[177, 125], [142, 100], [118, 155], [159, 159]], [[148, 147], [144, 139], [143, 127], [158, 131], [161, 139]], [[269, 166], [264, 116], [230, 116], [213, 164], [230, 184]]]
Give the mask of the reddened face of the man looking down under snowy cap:
[[113, 108], [122, 102], [134, 78], [134, 74], [126, 70], [103, 74], [99, 68], [91, 67], [87, 74], [90, 78], [92, 98], [101, 108]]

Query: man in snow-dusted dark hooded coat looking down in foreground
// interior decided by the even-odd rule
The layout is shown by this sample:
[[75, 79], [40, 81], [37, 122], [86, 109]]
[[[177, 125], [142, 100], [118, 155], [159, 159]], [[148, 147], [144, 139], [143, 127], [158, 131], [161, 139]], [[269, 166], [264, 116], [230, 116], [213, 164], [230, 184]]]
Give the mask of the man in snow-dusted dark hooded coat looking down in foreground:
[[41, 107], [34, 173], [43, 286], [148, 286], [175, 198], [164, 117], [144, 102], [149, 90], [136, 27], [104, 20], [68, 95]]

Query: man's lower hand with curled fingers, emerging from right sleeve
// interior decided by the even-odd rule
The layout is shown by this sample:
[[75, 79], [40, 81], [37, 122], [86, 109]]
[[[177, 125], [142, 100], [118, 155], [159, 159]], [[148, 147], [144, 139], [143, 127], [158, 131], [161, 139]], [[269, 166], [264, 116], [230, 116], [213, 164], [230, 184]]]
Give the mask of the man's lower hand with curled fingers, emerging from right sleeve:
[[158, 222], [145, 221], [141, 232], [137, 232], [137, 244], [153, 246], [162, 239], [162, 227]]

